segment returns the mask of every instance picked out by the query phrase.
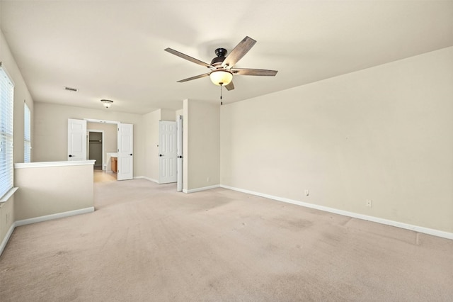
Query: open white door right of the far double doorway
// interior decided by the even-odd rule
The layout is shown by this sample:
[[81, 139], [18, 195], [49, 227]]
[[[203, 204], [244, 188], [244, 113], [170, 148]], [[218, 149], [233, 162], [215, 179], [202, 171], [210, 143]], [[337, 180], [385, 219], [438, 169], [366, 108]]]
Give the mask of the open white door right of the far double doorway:
[[134, 131], [132, 124], [118, 124], [117, 180], [134, 177]]

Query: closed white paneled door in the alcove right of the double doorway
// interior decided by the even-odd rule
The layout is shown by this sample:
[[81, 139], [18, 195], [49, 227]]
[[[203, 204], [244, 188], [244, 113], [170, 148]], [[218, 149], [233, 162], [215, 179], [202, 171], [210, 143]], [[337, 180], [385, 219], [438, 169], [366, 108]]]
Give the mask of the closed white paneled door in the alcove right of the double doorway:
[[159, 184], [178, 180], [176, 122], [159, 121]]

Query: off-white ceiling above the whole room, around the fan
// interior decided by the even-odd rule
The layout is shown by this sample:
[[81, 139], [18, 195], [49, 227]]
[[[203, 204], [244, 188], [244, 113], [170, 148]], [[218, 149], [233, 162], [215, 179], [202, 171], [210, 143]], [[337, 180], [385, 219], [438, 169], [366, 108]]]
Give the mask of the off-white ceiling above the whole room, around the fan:
[[[246, 35], [224, 103], [316, 82], [453, 45], [453, 1], [1, 1], [1, 30], [34, 101], [148, 113], [183, 99], [219, 102], [204, 62]], [[79, 92], [64, 90], [64, 86]], [[107, 109], [105, 109], [107, 110]]]

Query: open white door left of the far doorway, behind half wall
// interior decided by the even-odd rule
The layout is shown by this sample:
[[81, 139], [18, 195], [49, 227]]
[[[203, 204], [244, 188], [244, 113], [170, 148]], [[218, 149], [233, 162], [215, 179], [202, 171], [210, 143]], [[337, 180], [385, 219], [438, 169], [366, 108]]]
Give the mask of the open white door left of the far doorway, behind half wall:
[[68, 160], [86, 160], [86, 121], [68, 119]]

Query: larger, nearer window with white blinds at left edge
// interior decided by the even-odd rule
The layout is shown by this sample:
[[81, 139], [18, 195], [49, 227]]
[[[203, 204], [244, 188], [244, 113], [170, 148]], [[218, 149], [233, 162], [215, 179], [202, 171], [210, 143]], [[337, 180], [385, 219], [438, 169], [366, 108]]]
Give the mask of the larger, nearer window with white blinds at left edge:
[[13, 188], [13, 90], [0, 62], [0, 197]]

